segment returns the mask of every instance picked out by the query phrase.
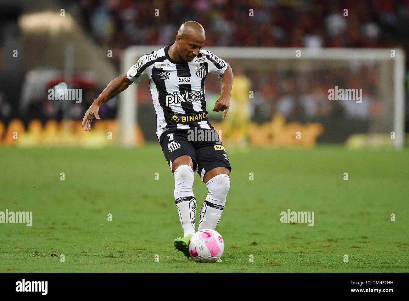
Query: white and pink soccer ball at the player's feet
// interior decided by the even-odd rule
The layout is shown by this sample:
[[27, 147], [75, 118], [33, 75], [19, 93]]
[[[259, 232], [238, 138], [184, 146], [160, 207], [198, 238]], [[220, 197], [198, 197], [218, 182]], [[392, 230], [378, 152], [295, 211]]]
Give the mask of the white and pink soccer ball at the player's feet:
[[190, 239], [190, 256], [193, 260], [201, 263], [214, 263], [222, 257], [224, 250], [223, 238], [215, 230], [200, 230]]

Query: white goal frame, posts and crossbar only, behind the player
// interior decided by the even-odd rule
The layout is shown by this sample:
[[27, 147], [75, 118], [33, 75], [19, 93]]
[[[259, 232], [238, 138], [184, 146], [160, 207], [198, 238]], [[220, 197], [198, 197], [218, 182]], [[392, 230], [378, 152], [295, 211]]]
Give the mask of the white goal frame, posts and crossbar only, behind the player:
[[[136, 63], [136, 58], [151, 53], [164, 46], [143, 45], [130, 46], [124, 50], [121, 59], [121, 73], [126, 73]], [[270, 48], [270, 47], [206, 47], [206, 50], [222, 58], [232, 59], [299, 59], [297, 50], [301, 50], [301, 59], [319, 60], [394, 60], [393, 72], [393, 129], [395, 146], [401, 149], [405, 145], [405, 52], [395, 50], [391, 57], [391, 49], [382, 48]], [[134, 146], [135, 125], [137, 124], [137, 86], [130, 85], [119, 94], [119, 143], [123, 146]]]

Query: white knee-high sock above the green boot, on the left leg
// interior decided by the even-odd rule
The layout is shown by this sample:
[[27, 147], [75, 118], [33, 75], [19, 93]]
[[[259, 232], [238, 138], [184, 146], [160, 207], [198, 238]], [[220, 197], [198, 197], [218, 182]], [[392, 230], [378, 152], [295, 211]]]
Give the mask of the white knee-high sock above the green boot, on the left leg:
[[197, 205], [192, 189], [195, 174], [189, 165], [180, 165], [173, 176], [175, 177], [175, 204], [184, 236], [195, 234]]

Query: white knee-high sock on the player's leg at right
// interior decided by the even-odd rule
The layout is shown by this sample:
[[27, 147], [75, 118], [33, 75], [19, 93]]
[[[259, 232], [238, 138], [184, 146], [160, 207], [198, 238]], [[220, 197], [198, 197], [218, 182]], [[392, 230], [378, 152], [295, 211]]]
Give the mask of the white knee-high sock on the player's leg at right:
[[227, 174], [218, 174], [206, 183], [209, 194], [200, 209], [199, 229], [216, 229], [226, 204], [230, 178]]

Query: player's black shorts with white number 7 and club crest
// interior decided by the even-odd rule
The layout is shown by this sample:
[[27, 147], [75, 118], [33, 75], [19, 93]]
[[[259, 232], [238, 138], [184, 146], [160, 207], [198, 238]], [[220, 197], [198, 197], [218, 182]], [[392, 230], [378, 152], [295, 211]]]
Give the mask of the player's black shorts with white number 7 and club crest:
[[193, 170], [202, 181], [205, 173], [215, 167], [227, 167], [231, 171], [227, 152], [213, 127], [170, 128], [161, 135], [160, 145], [171, 170], [176, 158], [190, 156]]

